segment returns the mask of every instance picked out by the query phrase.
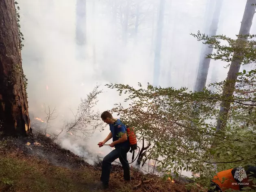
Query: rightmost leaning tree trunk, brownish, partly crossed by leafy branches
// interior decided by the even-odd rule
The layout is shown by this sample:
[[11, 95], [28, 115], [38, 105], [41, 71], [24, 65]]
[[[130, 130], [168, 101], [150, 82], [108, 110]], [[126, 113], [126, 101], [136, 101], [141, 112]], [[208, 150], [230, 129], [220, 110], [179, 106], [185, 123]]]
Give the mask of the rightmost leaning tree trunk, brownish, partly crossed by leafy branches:
[[[254, 17], [256, 6], [252, 5], [256, 4], [256, 0], [247, 0], [245, 6], [245, 12], [243, 14], [243, 19], [241, 22], [241, 27], [239, 31], [239, 35], [248, 35], [250, 32], [250, 28], [252, 26], [252, 19]], [[243, 49], [244, 43], [248, 38], [239, 37], [237, 39], [236, 47], [238, 49]], [[226, 84], [223, 89], [223, 95], [226, 98], [231, 97], [234, 93], [235, 83], [237, 79], [237, 73], [239, 72], [241, 66], [241, 52], [234, 52], [233, 60], [230, 64], [230, 68], [228, 71], [228, 77], [226, 79]], [[228, 112], [230, 108], [230, 102], [222, 101], [221, 108], [219, 111], [219, 118], [217, 121], [217, 130], [226, 126], [226, 121], [228, 119]]]

